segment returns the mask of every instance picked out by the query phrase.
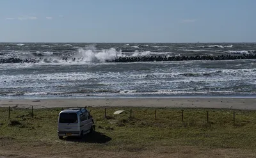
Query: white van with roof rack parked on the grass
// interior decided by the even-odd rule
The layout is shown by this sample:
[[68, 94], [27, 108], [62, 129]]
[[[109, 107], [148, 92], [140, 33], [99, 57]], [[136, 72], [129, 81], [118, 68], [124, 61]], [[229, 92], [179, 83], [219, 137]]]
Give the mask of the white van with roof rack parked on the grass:
[[60, 112], [58, 117], [58, 136], [79, 136], [93, 132], [93, 118], [86, 108], [69, 108]]

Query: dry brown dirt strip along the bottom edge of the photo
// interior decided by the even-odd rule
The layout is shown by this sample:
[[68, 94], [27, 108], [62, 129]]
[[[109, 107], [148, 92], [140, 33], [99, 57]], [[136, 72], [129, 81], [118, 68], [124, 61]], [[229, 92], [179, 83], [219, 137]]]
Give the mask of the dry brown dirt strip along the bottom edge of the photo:
[[[195, 146], [153, 146], [148, 150], [142, 152], [127, 152], [127, 151], [105, 151], [84, 149], [84, 151], [72, 148], [73, 152], [65, 152], [60, 149], [59, 152], [47, 150], [42, 148], [40, 150], [0, 150], [0, 158], [6, 157], [22, 157], [22, 158], [58, 158], [58, 157], [81, 157], [84, 153], [85, 157], [141, 157], [141, 158], [155, 158], [155, 157], [255, 157], [256, 154], [252, 150], [239, 149], [210, 149], [197, 148]], [[31, 148], [33, 149], [33, 148]]]

